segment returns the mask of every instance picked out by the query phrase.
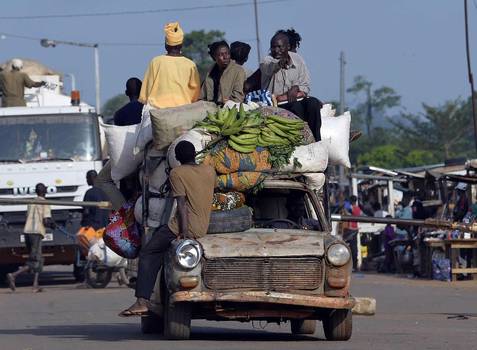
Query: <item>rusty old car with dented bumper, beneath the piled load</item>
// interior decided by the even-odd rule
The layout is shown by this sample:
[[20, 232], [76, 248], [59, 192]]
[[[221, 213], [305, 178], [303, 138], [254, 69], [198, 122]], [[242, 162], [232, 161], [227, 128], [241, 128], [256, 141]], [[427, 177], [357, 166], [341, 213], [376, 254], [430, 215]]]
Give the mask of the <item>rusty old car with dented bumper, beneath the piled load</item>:
[[[303, 216], [317, 219], [321, 231], [266, 228], [287, 222], [290, 191], [303, 191]], [[205, 237], [171, 243], [142, 331], [187, 340], [191, 319], [206, 319], [290, 322], [293, 334], [313, 334], [321, 320], [327, 340], [350, 339], [351, 254], [330, 233], [324, 198], [301, 178], [273, 179], [248, 194], [246, 206], [213, 211]], [[175, 214], [176, 200], [169, 196], [162, 222]]]

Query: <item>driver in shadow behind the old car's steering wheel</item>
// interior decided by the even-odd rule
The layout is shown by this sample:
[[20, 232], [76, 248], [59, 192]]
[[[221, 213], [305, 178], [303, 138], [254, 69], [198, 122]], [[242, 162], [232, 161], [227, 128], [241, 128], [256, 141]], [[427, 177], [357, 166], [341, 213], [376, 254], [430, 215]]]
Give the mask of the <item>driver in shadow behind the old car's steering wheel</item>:
[[278, 221], [270, 225], [270, 228], [323, 231], [320, 221], [303, 217], [305, 213], [305, 194], [302, 191], [291, 191], [287, 196], [285, 207], [288, 210], [287, 220], [294, 222], [298, 227], [291, 227], [293, 225], [286, 221]]

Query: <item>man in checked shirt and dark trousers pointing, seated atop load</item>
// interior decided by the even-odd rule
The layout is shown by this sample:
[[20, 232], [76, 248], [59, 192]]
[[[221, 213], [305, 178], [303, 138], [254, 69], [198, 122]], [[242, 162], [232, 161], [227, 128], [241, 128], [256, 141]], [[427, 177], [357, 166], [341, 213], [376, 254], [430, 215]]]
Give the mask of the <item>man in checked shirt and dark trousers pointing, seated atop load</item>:
[[[288, 36], [278, 33], [271, 38], [270, 53], [260, 60], [260, 69], [262, 89], [269, 90], [275, 96], [287, 94], [288, 103], [280, 107], [308, 122], [315, 140], [320, 141], [320, 109], [323, 103], [315, 97], [308, 96], [310, 73], [301, 56], [290, 51]], [[301, 101], [297, 101], [299, 91], [306, 96]]]

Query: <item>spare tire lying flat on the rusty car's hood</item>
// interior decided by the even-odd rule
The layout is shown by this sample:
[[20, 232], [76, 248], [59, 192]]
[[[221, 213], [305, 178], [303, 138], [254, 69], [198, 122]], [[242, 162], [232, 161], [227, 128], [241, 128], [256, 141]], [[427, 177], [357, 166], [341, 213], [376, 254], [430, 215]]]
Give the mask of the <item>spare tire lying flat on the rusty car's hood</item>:
[[247, 231], [252, 227], [252, 212], [248, 207], [213, 210], [210, 213], [207, 233], [232, 233]]

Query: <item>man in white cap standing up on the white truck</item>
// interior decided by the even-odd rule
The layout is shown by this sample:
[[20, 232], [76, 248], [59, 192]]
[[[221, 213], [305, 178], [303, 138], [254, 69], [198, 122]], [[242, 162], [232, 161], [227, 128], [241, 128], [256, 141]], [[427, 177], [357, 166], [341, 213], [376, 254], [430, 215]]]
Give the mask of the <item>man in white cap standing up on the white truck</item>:
[[12, 61], [11, 72], [0, 73], [0, 85], [2, 87], [2, 107], [21, 107], [26, 106], [23, 100], [24, 88], [40, 87], [45, 82], [34, 82], [30, 79], [28, 74], [20, 72], [23, 67], [23, 61], [18, 58]]

